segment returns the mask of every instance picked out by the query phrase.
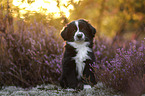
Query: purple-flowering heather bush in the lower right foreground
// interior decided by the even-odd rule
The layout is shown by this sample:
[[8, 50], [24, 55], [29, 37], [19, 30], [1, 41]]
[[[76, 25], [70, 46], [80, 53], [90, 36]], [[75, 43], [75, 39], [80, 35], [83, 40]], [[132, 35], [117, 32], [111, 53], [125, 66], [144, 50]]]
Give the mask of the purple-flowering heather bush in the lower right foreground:
[[104, 60], [94, 66], [100, 81], [121, 92], [128, 92], [133, 87], [132, 82], [141, 81], [145, 73], [145, 43], [130, 43], [127, 48], [118, 48], [112, 60]]

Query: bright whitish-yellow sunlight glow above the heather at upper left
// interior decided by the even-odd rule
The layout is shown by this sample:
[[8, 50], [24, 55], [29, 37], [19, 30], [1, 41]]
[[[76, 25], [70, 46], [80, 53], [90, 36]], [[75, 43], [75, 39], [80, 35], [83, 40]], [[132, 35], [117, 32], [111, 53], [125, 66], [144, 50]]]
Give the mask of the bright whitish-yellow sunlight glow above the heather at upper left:
[[[22, 2], [23, 1], [23, 2]], [[21, 18], [24, 18], [22, 15], [27, 11], [38, 12], [47, 14], [54, 14], [55, 18], [61, 16], [61, 12], [63, 12], [67, 18], [70, 15], [70, 10], [73, 10], [73, 5], [68, 5], [70, 0], [60, 0], [60, 5], [58, 7], [57, 0], [33, 0], [31, 4], [28, 3], [28, 0], [13, 0], [13, 5], [18, 6], [20, 8]], [[80, 0], [74, 0], [78, 3]], [[68, 5], [66, 8], [65, 6]]]

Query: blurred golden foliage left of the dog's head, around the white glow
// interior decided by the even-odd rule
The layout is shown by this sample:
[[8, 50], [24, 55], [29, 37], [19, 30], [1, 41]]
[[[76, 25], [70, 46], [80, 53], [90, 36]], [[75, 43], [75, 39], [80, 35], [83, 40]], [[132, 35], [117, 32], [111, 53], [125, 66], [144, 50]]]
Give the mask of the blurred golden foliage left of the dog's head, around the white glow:
[[[6, 22], [8, 21], [10, 25], [12, 25], [12, 23], [16, 23], [17, 20], [24, 20], [28, 25], [30, 25], [32, 22], [37, 21], [37, 22], [41, 22], [44, 24], [48, 24], [50, 26], [54, 26], [57, 29], [61, 29], [65, 24], [68, 23], [68, 19], [66, 18], [66, 16], [64, 15], [63, 10], [61, 10], [60, 8], [60, 1], [61, 0], [56, 0], [57, 3], [57, 7], [60, 10], [60, 17], [59, 18], [55, 18], [54, 14], [55, 13], [49, 13], [49, 14], [45, 14], [47, 9], [45, 8], [41, 8], [41, 12], [37, 12], [37, 11], [29, 11], [29, 10], [25, 10], [26, 8], [24, 8], [23, 10], [25, 10], [25, 13], [21, 14], [20, 11], [22, 11], [22, 9], [19, 9], [19, 6], [14, 6], [12, 4], [13, 0], [0, 0], [1, 1], [1, 10], [0, 10], [0, 24], [5, 22], [4, 24], [1, 24], [0, 26], [0, 30], [4, 31], [6, 29]], [[22, 0], [21, 3], [28, 3], [28, 4], [32, 4], [35, 2], [35, 0]], [[64, 5], [65, 6], [65, 5]], [[65, 6], [67, 8], [67, 6]], [[44, 12], [44, 13], [43, 13]], [[13, 21], [14, 19], [14, 21]], [[14, 24], [14, 29], [16, 29], [17, 26]]]

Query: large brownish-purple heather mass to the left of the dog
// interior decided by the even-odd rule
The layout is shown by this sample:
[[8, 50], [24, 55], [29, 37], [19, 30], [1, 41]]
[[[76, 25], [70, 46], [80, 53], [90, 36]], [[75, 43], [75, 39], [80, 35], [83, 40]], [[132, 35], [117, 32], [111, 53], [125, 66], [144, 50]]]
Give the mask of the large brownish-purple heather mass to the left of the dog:
[[62, 41], [57, 30], [34, 22], [17, 22], [14, 31], [0, 34], [0, 84], [31, 87], [58, 84]]

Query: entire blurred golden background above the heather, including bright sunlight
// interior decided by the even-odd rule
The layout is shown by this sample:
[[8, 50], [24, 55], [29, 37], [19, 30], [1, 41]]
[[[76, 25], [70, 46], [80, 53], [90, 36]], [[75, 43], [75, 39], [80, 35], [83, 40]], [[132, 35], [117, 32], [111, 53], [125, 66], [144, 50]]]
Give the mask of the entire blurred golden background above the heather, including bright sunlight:
[[[139, 38], [144, 33], [145, 0], [1, 0], [5, 16], [25, 23], [49, 24], [58, 31], [76, 19], [88, 20], [97, 35]], [[15, 26], [14, 26], [15, 28]]]

